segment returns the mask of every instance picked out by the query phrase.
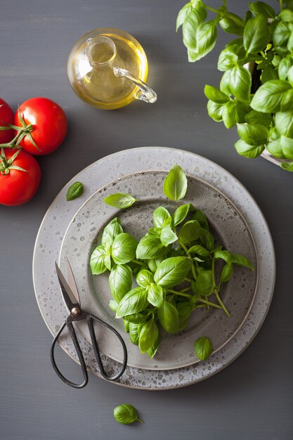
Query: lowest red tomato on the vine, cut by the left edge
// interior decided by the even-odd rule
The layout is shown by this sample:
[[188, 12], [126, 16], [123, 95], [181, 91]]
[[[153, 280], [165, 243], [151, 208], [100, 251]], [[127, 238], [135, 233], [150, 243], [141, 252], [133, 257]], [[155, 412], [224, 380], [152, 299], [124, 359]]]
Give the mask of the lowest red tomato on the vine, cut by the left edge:
[[[0, 203], [1, 205], [16, 206], [28, 202], [36, 193], [41, 180], [41, 168], [37, 160], [22, 150], [4, 149], [6, 162], [17, 152], [20, 153], [13, 160], [8, 174], [0, 172]], [[3, 158], [0, 156], [0, 169], [3, 168]], [[12, 167], [26, 170], [20, 171]], [[7, 169], [7, 168], [6, 168]]]

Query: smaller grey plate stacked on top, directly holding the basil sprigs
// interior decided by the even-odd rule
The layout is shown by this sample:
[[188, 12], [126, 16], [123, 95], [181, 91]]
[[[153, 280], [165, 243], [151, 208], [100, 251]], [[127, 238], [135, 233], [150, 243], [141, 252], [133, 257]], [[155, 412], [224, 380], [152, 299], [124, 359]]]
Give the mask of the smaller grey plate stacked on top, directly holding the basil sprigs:
[[[92, 276], [89, 270], [91, 252], [100, 244], [103, 228], [114, 216], [119, 216], [125, 232], [138, 240], [152, 224], [152, 212], [164, 205], [174, 212], [183, 202], [171, 202], [164, 197], [162, 186], [167, 172], [143, 172], [124, 176], [100, 188], [79, 209], [65, 233], [60, 250], [59, 264], [65, 270], [65, 258], [69, 259], [79, 288], [82, 307], [110, 323], [124, 336], [128, 351], [128, 365], [151, 370], [171, 370], [195, 363], [197, 360], [193, 344], [203, 335], [208, 336], [214, 352], [222, 349], [239, 330], [247, 317], [254, 299], [257, 285], [257, 257], [252, 235], [244, 219], [232, 202], [214, 186], [188, 176], [188, 193], [184, 202], [190, 202], [207, 215], [211, 229], [218, 242], [231, 252], [243, 254], [254, 264], [256, 270], [235, 268], [233, 278], [223, 285], [222, 298], [231, 317], [219, 309], [194, 311], [188, 327], [176, 335], [163, 333], [162, 342], [155, 358], [142, 355], [138, 347], [131, 344], [124, 331], [123, 321], [115, 319], [109, 309], [112, 295], [109, 289], [108, 272]], [[140, 202], [130, 209], [109, 207], [103, 199], [112, 193], [131, 193]], [[214, 299], [211, 299], [213, 301]], [[79, 323], [79, 330], [90, 340], [87, 325]], [[121, 344], [112, 332], [97, 328], [101, 351], [115, 361], [122, 362]]]

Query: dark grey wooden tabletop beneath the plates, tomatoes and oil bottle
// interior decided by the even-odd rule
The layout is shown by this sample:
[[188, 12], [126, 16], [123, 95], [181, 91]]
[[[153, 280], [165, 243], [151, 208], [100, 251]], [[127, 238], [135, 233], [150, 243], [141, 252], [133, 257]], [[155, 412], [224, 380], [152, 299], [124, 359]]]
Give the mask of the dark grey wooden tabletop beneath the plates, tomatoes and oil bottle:
[[[237, 3], [237, 4], [236, 4]], [[272, 6], [276, 1], [271, 0]], [[183, 2], [176, 0], [1, 0], [0, 96], [16, 108], [32, 96], [56, 100], [67, 113], [65, 143], [40, 157], [42, 181], [22, 207], [0, 206], [0, 439], [291, 440], [292, 418], [292, 174], [262, 158], [235, 153], [235, 129], [207, 116], [204, 84], [217, 85], [213, 53], [189, 64], [174, 31]], [[209, 0], [219, 6], [220, 0]], [[229, 1], [243, 13], [247, 1]], [[67, 82], [66, 60], [82, 34], [96, 27], [127, 30], [150, 62], [154, 105], [136, 102], [112, 112], [79, 101]], [[190, 150], [228, 169], [247, 187], [266, 216], [275, 242], [277, 280], [265, 323], [247, 350], [204, 382], [168, 392], [117, 387], [91, 376], [82, 390], [56, 377], [48, 358], [51, 335], [32, 285], [32, 251], [39, 224], [58, 191], [79, 170], [124, 148], [165, 145]], [[60, 351], [72, 378], [78, 365]], [[121, 426], [119, 403], [132, 403], [144, 425]]]

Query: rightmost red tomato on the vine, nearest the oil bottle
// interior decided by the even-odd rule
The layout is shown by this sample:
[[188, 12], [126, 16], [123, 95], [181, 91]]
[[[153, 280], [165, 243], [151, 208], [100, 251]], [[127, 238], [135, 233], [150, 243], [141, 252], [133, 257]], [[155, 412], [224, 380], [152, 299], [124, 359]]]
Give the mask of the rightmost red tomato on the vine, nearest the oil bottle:
[[[20, 145], [33, 155], [47, 155], [56, 150], [67, 133], [67, 119], [60, 105], [48, 98], [31, 98], [20, 105], [20, 115], [27, 125], [32, 124], [32, 138], [39, 150], [25, 136]], [[18, 111], [15, 112], [14, 124], [21, 127]]]

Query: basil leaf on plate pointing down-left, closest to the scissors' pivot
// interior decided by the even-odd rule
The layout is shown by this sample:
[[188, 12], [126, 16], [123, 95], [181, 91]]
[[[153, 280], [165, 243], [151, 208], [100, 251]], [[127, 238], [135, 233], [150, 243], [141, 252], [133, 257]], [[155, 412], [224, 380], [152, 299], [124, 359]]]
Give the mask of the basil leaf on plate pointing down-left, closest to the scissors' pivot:
[[119, 302], [116, 318], [123, 318], [143, 311], [148, 306], [148, 292], [143, 287], [130, 290]]

